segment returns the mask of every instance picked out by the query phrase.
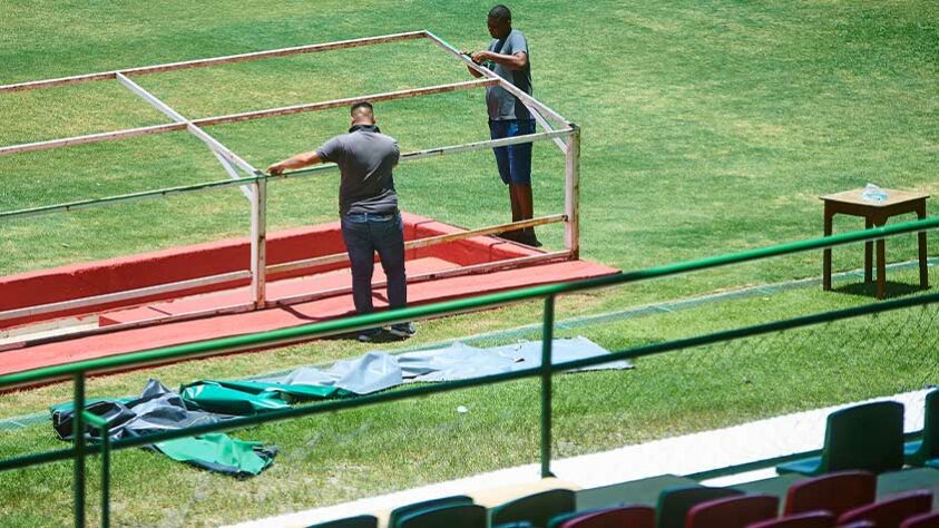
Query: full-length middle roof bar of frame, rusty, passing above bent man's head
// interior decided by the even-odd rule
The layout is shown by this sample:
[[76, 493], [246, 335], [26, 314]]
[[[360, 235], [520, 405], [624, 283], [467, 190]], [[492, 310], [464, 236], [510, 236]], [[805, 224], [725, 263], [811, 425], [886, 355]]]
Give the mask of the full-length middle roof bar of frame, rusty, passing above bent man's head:
[[[125, 77], [126, 78], [126, 77]], [[434, 94], [446, 94], [449, 91], [457, 91], [457, 90], [466, 90], [470, 88], [478, 88], [482, 86], [493, 86], [497, 85], [498, 81], [493, 79], [479, 79], [479, 80], [471, 80], [471, 81], [463, 81], [463, 82], [454, 82], [450, 85], [439, 85], [439, 86], [431, 86], [428, 88], [418, 88], [411, 90], [399, 90], [399, 91], [390, 91], [385, 94], [372, 94], [368, 96], [359, 96], [359, 97], [348, 97], [344, 99], [334, 99], [330, 101], [323, 102], [313, 102], [309, 105], [296, 105], [296, 106], [288, 106], [282, 108], [271, 108], [266, 110], [255, 110], [255, 111], [247, 111], [242, 114], [229, 114], [226, 116], [215, 116], [215, 117], [204, 117], [202, 119], [193, 119], [192, 121], [187, 121], [187, 124], [195, 125], [196, 127], [204, 127], [209, 125], [222, 125], [226, 123], [238, 123], [238, 121], [246, 121], [251, 119], [260, 119], [263, 117], [275, 117], [275, 116], [286, 116], [291, 114], [300, 114], [304, 111], [316, 111], [316, 110], [326, 110], [330, 108], [339, 108], [343, 106], [350, 106], [355, 102], [361, 101], [387, 101], [393, 99], [404, 99], [408, 97], [419, 97], [419, 96], [428, 96]], [[136, 86], [136, 85], [135, 85]], [[137, 136], [147, 136], [151, 134], [165, 134], [170, 131], [178, 131], [187, 128], [187, 124], [183, 123], [170, 123], [166, 125], [154, 125], [148, 127], [139, 127], [139, 128], [127, 128], [124, 130], [114, 130], [108, 133], [101, 134], [89, 134], [86, 136], [76, 136], [62, 139], [51, 139], [48, 141], [38, 141], [38, 143], [26, 143], [21, 145], [11, 145], [7, 147], [0, 147], [0, 156], [7, 154], [18, 154], [18, 153], [28, 153], [35, 150], [50, 150], [53, 148], [59, 147], [67, 147], [71, 145], [82, 145], [88, 143], [99, 143], [99, 141], [111, 141], [117, 139], [124, 139], [128, 137], [137, 137]]]

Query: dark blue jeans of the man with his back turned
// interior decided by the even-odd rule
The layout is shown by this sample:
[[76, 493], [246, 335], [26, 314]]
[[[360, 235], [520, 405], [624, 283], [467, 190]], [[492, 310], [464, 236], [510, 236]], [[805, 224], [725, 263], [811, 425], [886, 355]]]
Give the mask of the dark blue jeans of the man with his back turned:
[[352, 299], [355, 311], [371, 313], [372, 273], [375, 252], [388, 277], [388, 304], [392, 309], [408, 304], [404, 275], [404, 224], [398, 213], [349, 213], [342, 216], [342, 239], [352, 264]]

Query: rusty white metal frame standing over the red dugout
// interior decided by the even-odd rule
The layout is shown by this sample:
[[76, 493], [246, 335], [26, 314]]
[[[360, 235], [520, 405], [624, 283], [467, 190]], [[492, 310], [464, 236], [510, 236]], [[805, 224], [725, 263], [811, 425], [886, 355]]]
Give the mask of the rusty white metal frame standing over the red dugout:
[[[234, 62], [244, 62], [248, 60], [257, 60], [273, 57], [288, 57], [301, 53], [311, 53], [319, 51], [354, 48], [362, 46], [372, 46], [378, 43], [397, 42], [402, 40], [428, 39], [439, 48], [443, 49], [450, 56], [466, 63], [467, 67], [478, 72], [481, 78], [470, 81], [453, 82], [449, 85], [430, 86], [426, 88], [415, 88], [409, 90], [389, 91], [382, 94], [370, 94], [365, 96], [349, 97], [343, 99], [333, 99], [327, 101], [311, 102], [303, 105], [295, 105], [290, 107], [271, 108], [265, 110], [255, 110], [241, 114], [231, 114], [224, 116], [214, 116], [199, 119], [189, 119], [178, 111], [174, 110], [166, 102], [159, 100], [156, 96], [144, 89], [140, 85], [133, 80], [136, 76], [157, 74], [164, 71], [173, 71], [189, 68], [203, 68]], [[434, 94], [444, 94], [457, 90], [466, 90], [481, 87], [500, 86], [507, 91], [518, 97], [522, 104], [531, 111], [535, 119], [541, 125], [545, 131], [529, 134], [505, 139], [490, 139], [476, 143], [467, 143], [462, 145], [453, 145], [447, 147], [431, 148], [426, 150], [418, 150], [407, 153], [401, 156], [401, 162], [411, 162], [423, 159], [433, 156], [452, 155], [464, 151], [481, 150], [499, 146], [517, 145], [522, 143], [535, 143], [542, 140], [554, 141], [559, 150], [565, 155], [565, 211], [564, 214], [542, 216], [522, 222], [512, 222], [508, 224], [500, 224], [495, 226], [482, 227], [478, 229], [469, 229], [453, 235], [436, 236], [409, 242], [405, 247], [427, 247], [436, 244], [444, 244], [463, 238], [480, 235], [500, 234], [508, 231], [515, 231], [522, 227], [532, 227], [538, 225], [548, 225], [554, 223], [565, 224], [565, 251], [548, 252], [544, 255], [536, 255], [531, 257], [521, 257], [502, 262], [492, 262], [480, 264], [476, 266], [464, 266], [444, 272], [429, 274], [427, 276], [409, 277], [409, 282], [423, 281], [440, 276], [453, 276], [462, 274], [486, 273], [488, 271], [502, 270], [506, 267], [528, 265], [537, 262], [557, 261], [559, 258], [577, 258], [579, 252], [579, 234], [578, 234], [578, 196], [579, 196], [579, 154], [580, 154], [580, 130], [579, 128], [565, 119], [560, 114], [550, 109], [546, 105], [539, 102], [534, 97], [525, 94], [516, 88], [509, 81], [493, 74], [491, 70], [476, 65], [464, 55], [460, 53], [456, 48], [444, 42], [442, 39], [429, 31], [411, 31], [405, 33], [385, 35], [380, 37], [369, 37], [354, 40], [343, 40], [338, 42], [315, 43], [307, 46], [297, 46], [292, 48], [282, 48], [267, 51], [257, 51], [252, 53], [233, 55], [226, 57], [215, 57], [208, 59], [188, 60], [184, 62], [172, 62], [165, 65], [147, 66], [140, 68], [129, 68], [124, 70], [104, 71], [97, 74], [88, 74], [72, 77], [62, 77], [57, 79], [38, 80], [30, 82], [20, 82], [14, 85], [0, 86], [0, 95], [6, 92], [35, 90], [42, 88], [51, 88], [58, 86], [76, 85], [81, 82], [92, 82], [102, 80], [117, 80], [121, 86], [144, 99], [155, 109], [167, 116], [173, 123], [164, 125], [154, 125], [147, 127], [129, 128], [124, 130], [107, 131], [100, 134], [90, 134], [85, 136], [68, 137], [61, 139], [52, 139], [38, 143], [28, 143], [21, 145], [11, 145], [0, 147], [0, 156], [48, 150], [53, 148], [61, 148], [72, 145], [81, 145], [89, 143], [119, 140], [131, 137], [147, 136], [154, 134], [165, 134], [170, 131], [188, 130], [199, 140], [205, 143], [208, 149], [222, 164], [225, 173], [229, 179], [221, 182], [206, 182], [189, 186], [170, 187], [156, 190], [147, 190], [143, 193], [134, 193], [120, 196], [109, 196], [97, 199], [87, 199], [81, 202], [74, 202], [67, 204], [56, 204], [43, 207], [33, 207], [28, 209], [0, 212], [0, 222], [12, 218], [21, 218], [26, 216], [36, 216], [42, 214], [52, 214], [60, 212], [77, 211], [81, 208], [102, 207], [115, 205], [119, 203], [128, 203], [139, 199], [148, 199], [156, 197], [164, 197], [172, 194], [200, 192], [214, 188], [223, 188], [228, 186], [241, 187], [242, 193], [251, 202], [251, 263], [250, 271], [226, 273], [222, 275], [213, 275], [199, 277], [196, 280], [188, 280], [185, 282], [166, 283], [150, 287], [133, 290], [127, 292], [110, 293], [105, 295], [96, 295], [82, 297], [60, 303], [50, 303], [43, 305], [35, 305], [0, 312], [0, 322], [21, 317], [25, 315], [39, 315], [45, 313], [55, 313], [62, 310], [71, 309], [94, 309], [108, 302], [133, 301], [143, 299], [147, 295], [172, 293], [194, 286], [204, 286], [211, 284], [218, 284], [233, 278], [244, 278], [244, 274], [248, 273], [251, 276], [251, 292], [252, 300], [250, 304], [237, 306], [225, 306], [217, 310], [200, 312], [198, 314], [186, 314], [186, 317], [206, 316], [217, 313], [228, 313], [232, 311], [247, 311], [271, 307], [274, 305], [282, 305], [285, 303], [302, 302], [312, 299], [310, 295], [299, 296], [291, 300], [278, 300], [271, 302], [266, 299], [266, 277], [273, 272], [283, 272], [287, 270], [300, 270], [310, 266], [321, 265], [325, 263], [343, 262], [345, 255], [327, 255], [323, 257], [291, 262], [277, 265], [268, 265], [266, 261], [266, 217], [267, 217], [267, 182], [271, 179], [292, 178], [306, 175], [316, 175], [329, 170], [334, 170], [336, 167], [333, 164], [317, 166], [304, 170], [294, 170], [285, 173], [280, 176], [271, 176], [262, 173], [256, 167], [252, 166], [241, 156], [232, 151], [221, 141], [212, 137], [205, 131], [205, 127], [219, 124], [238, 123], [250, 119], [260, 119], [264, 117], [285, 116], [291, 114], [325, 110], [330, 108], [345, 107], [360, 101], [387, 101], [394, 99], [403, 99], [410, 97], [420, 97]], [[237, 275], [237, 276], [236, 276]], [[343, 292], [331, 292], [331, 294]], [[151, 323], [151, 322], [150, 322]], [[139, 323], [138, 323], [139, 324]], [[119, 330], [110, 329], [108, 331]], [[105, 329], [101, 329], [105, 331]], [[92, 331], [94, 332], [94, 331]]]

